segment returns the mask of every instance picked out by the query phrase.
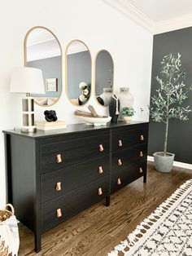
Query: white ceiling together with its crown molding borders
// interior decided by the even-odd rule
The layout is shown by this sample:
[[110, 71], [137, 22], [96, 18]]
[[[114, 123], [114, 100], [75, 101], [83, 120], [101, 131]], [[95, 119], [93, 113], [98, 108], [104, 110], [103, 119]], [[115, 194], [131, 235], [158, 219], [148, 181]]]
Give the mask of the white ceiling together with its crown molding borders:
[[103, 0], [153, 34], [192, 26], [192, 0]]

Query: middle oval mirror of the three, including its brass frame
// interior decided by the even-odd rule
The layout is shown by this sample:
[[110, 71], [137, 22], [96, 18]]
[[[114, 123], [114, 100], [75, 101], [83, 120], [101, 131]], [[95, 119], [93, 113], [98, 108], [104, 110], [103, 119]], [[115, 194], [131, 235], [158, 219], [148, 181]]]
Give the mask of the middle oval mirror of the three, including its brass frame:
[[91, 55], [80, 40], [73, 40], [66, 49], [66, 91], [76, 106], [88, 102], [91, 93]]

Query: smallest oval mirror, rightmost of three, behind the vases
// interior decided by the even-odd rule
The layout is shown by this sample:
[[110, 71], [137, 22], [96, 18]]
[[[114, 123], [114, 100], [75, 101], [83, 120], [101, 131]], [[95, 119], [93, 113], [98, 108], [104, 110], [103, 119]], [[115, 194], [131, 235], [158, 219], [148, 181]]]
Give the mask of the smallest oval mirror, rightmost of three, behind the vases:
[[98, 52], [95, 62], [95, 95], [99, 104], [107, 106], [113, 95], [114, 64], [111, 54], [102, 50]]

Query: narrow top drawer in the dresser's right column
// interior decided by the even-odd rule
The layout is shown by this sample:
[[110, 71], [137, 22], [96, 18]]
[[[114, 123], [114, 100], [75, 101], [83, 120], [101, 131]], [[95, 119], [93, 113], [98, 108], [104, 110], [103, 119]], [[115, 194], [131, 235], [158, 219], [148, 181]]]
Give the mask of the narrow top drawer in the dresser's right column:
[[147, 143], [148, 129], [146, 126], [143, 129], [124, 130], [121, 132], [114, 132], [112, 134], [112, 152], [120, 151], [134, 145], [142, 145]]

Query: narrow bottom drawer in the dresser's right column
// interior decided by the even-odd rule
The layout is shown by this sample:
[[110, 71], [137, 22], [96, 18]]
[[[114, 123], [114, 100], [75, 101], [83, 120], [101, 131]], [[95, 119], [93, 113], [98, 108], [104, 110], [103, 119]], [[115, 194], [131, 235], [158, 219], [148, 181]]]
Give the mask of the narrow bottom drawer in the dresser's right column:
[[112, 174], [111, 193], [123, 188], [146, 174], [146, 162], [134, 162], [124, 169]]

